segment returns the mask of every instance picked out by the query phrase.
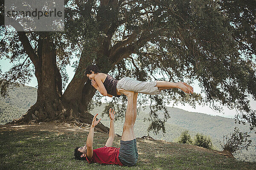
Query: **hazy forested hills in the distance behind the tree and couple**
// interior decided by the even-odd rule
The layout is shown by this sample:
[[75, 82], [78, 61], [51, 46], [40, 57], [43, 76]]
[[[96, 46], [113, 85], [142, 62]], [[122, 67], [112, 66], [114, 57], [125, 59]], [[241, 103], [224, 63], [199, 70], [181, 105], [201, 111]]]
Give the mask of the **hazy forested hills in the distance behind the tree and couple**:
[[[19, 118], [22, 114], [35, 104], [37, 99], [37, 89], [29, 86], [20, 86], [9, 91], [9, 96], [6, 98], [0, 97], [0, 124], [12, 121], [12, 119]], [[103, 103], [101, 106], [96, 107], [92, 111], [92, 114], [102, 113], [104, 110]], [[248, 125], [237, 125], [234, 123], [234, 119], [225, 118], [221, 116], [211, 116], [205, 113], [195, 113], [184, 111], [179, 108], [167, 108], [170, 114], [170, 119], [166, 122], [166, 133], [159, 133], [154, 135], [150, 133], [154, 139], [166, 140], [173, 142], [177, 140], [180, 133], [184, 130], [189, 130], [190, 135], [193, 137], [196, 133], [202, 133], [212, 138], [212, 142], [216, 148], [221, 150], [219, 140], [223, 139], [223, 136], [233, 132], [235, 126], [239, 127], [241, 131], [248, 131]], [[134, 127], [137, 137], [145, 136], [148, 134], [147, 128], [149, 123], [144, 122], [144, 118], [147, 117], [150, 112], [148, 107], [145, 110], [140, 109], [140, 113], [137, 116], [136, 124]], [[161, 111], [159, 111], [161, 113]], [[104, 125], [109, 127], [109, 119], [107, 116], [103, 116], [101, 121]], [[123, 121], [115, 122], [116, 133], [122, 134]], [[251, 139], [256, 144], [256, 135], [251, 134]], [[256, 160], [256, 147], [250, 148], [248, 151], [243, 151], [234, 154], [234, 156], [240, 160]], [[249, 153], [249, 154], [247, 154]]]

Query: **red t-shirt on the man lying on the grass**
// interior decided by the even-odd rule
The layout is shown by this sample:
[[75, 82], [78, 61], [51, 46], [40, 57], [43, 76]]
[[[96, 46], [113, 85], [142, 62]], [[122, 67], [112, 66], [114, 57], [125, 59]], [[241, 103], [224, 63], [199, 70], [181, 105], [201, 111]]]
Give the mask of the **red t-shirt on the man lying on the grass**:
[[119, 149], [117, 147], [100, 147], [93, 150], [93, 157], [91, 160], [86, 159], [89, 163], [99, 163], [99, 164], [118, 164], [123, 166], [119, 161]]

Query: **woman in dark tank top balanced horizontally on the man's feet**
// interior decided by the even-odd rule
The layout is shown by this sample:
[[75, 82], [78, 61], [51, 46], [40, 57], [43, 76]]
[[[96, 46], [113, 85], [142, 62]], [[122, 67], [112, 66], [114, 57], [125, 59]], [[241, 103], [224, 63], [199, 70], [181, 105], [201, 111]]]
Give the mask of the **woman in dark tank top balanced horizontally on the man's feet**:
[[143, 94], [160, 94], [161, 90], [170, 88], [179, 88], [188, 94], [193, 93], [192, 86], [186, 84], [185, 82], [141, 82], [130, 77], [124, 77], [117, 80], [108, 74], [99, 72], [99, 68], [96, 65], [89, 65], [84, 74], [89, 77], [93, 87], [96, 88], [103, 96], [119, 97], [121, 93], [119, 93], [118, 89], [121, 88], [127, 91], [134, 91]]

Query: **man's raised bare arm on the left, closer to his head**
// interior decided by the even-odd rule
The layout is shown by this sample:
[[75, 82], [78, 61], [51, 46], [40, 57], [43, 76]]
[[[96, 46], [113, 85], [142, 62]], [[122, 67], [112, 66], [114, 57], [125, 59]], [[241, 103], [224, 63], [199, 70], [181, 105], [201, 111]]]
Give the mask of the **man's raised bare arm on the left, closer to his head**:
[[86, 147], [87, 147], [87, 159], [91, 160], [93, 157], [93, 136], [94, 136], [94, 127], [96, 125], [98, 125], [99, 121], [101, 119], [99, 119], [98, 121], [96, 121], [96, 116], [98, 115], [98, 113], [93, 117], [93, 122], [92, 125], [90, 127], [90, 132], [87, 136], [87, 141], [86, 141]]

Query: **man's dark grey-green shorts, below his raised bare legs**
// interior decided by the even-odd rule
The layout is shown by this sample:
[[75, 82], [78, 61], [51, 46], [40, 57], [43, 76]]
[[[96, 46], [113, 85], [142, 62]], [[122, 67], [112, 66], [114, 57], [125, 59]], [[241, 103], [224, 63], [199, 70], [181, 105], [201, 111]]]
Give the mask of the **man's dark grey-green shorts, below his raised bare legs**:
[[134, 166], [138, 159], [136, 139], [120, 141], [119, 161], [125, 166]]

